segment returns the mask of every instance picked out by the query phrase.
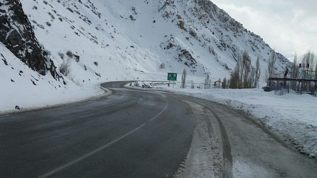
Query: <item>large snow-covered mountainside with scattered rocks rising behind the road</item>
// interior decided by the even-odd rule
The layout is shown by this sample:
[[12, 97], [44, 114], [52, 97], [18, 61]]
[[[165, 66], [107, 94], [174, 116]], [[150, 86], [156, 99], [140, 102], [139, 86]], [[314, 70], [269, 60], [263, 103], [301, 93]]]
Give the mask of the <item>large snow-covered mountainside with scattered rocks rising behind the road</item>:
[[[12, 13], [8, 10], [12, 2], [19, 0], [4, 0], [0, 18]], [[52, 60], [50, 64], [58, 71], [70, 59], [71, 71], [64, 77], [66, 88], [74, 84], [72, 81], [86, 85], [89, 80], [92, 83], [137, 78], [166, 80], [167, 72], [181, 73], [184, 68], [188, 70], [188, 79], [197, 82], [207, 73], [215, 80], [229, 78], [243, 50], [250, 54], [253, 66], [260, 58], [263, 80], [273, 50], [260, 36], [244, 29], [208, 0], [20, 2], [39, 48], [43, 47], [44, 56], [48, 56], [47, 61]], [[5, 46], [0, 48], [3, 58], [13, 64], [10, 61], [16, 58], [7, 53], [10, 48]], [[23, 61], [20, 55], [14, 55]], [[284, 56], [277, 54], [277, 57], [278, 70], [289, 65]], [[23, 65], [34, 69], [29, 63]], [[0, 67], [2, 83], [17, 80], [17, 71], [7, 69], [10, 65], [0, 61]], [[39, 78], [51, 80], [42, 75]], [[22, 85], [12, 82], [7, 88], [17, 86]]]

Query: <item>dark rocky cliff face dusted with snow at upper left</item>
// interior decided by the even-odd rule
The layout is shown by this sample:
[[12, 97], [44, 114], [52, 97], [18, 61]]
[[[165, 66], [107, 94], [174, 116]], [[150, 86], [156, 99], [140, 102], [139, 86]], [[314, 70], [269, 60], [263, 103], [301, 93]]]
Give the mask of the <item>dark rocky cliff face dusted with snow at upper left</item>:
[[53, 61], [37, 41], [19, 0], [0, 2], [0, 41], [22, 62], [42, 75], [50, 71], [57, 79]]

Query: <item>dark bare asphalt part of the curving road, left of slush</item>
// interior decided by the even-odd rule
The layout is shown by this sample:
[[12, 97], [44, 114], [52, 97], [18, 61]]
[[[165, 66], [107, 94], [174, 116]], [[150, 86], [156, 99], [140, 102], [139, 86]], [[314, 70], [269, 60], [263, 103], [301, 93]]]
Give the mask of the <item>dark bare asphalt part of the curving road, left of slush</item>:
[[190, 147], [190, 107], [120, 84], [109, 97], [0, 116], [0, 177], [171, 176]]

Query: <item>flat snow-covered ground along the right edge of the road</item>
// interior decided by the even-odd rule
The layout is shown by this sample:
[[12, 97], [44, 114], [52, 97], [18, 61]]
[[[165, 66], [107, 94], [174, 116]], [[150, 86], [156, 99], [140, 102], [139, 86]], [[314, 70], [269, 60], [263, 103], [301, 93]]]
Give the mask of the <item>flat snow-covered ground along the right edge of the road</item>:
[[[140, 86], [143, 84], [153, 85], [139, 82]], [[317, 155], [317, 97], [309, 94], [277, 96], [262, 89], [180, 89], [179, 83], [174, 89], [171, 87], [162, 83], [154, 89], [203, 98], [243, 111], [284, 135], [297, 149]]]

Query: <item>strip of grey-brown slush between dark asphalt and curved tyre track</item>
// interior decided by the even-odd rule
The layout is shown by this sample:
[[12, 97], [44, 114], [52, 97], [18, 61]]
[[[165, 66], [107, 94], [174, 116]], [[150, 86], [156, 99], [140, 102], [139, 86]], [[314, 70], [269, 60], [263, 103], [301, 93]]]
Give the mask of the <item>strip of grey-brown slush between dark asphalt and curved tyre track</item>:
[[[208, 134], [207, 123], [203, 117], [202, 107], [196, 104], [187, 103], [199, 113], [197, 126], [194, 131], [192, 143], [188, 152], [185, 163], [176, 171], [173, 177], [221, 177], [222, 155], [221, 143], [219, 139], [210, 138]], [[216, 134], [215, 134], [216, 135]], [[214, 145], [211, 147], [210, 145]]]

